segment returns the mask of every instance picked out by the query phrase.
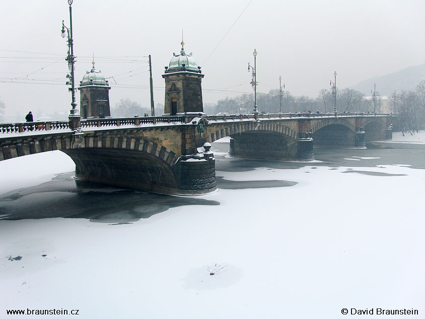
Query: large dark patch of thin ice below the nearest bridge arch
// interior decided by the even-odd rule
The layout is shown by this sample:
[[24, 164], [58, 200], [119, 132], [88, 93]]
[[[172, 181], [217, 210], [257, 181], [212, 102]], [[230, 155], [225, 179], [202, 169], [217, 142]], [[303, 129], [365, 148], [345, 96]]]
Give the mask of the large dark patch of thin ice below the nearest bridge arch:
[[220, 205], [217, 201], [194, 197], [162, 195], [76, 181], [73, 175], [59, 174], [49, 182], [4, 194], [0, 197], [0, 219], [63, 217], [123, 224], [149, 218], [173, 207]]

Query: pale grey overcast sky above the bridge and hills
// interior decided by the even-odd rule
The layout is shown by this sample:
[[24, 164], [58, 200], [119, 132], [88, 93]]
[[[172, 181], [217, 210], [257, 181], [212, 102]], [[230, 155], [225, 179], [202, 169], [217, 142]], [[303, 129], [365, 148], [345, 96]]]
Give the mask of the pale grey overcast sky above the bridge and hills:
[[[316, 97], [329, 88], [334, 71], [337, 86], [345, 88], [425, 63], [423, 0], [74, 0], [72, 8], [76, 82], [91, 69], [94, 54], [95, 68], [110, 78], [111, 106], [127, 97], [150, 106], [149, 54], [155, 104], [164, 104], [161, 75], [181, 49], [182, 30], [186, 52], [205, 75], [204, 103], [252, 92], [247, 66], [254, 48], [258, 92], [278, 89], [281, 76], [296, 96]], [[69, 27], [66, 0], [2, 2], [6, 113], [32, 110], [36, 119], [39, 110], [69, 112], [62, 20]]]

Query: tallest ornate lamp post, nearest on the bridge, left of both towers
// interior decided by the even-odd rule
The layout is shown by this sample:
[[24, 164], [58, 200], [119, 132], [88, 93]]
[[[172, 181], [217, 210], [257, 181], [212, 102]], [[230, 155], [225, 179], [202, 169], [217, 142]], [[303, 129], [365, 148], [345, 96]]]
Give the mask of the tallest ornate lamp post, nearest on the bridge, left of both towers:
[[66, 75], [66, 78], [68, 78], [68, 81], [66, 82], [67, 85], [71, 85], [68, 90], [72, 93], [72, 102], [71, 106], [72, 109], [69, 113], [69, 128], [74, 131], [79, 131], [81, 128], [80, 120], [80, 112], [77, 109], [77, 103], [75, 98], [75, 77], [74, 77], [74, 70], [75, 70], [75, 56], [74, 56], [74, 40], [73, 40], [73, 13], [72, 13], [72, 7], [73, 0], [68, 0], [69, 5], [69, 29], [65, 27], [62, 20], [62, 38], [65, 37], [65, 30], [67, 32], [68, 36], [68, 55], [66, 56], [65, 60], [68, 61], [68, 68], [70, 71], [70, 74]]

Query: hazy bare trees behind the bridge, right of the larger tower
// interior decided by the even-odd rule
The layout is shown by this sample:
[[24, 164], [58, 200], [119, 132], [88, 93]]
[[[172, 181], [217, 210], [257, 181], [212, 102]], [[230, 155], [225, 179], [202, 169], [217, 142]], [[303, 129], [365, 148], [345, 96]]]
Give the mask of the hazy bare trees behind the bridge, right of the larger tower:
[[[339, 113], [363, 112], [377, 113], [391, 112], [395, 115], [395, 129], [420, 130], [425, 126], [425, 80], [422, 80], [415, 91], [401, 91], [391, 96], [389, 105], [384, 108], [384, 100], [379, 92], [375, 100], [357, 90], [345, 88], [337, 90], [336, 110]], [[323, 89], [316, 98], [308, 96], [293, 96], [284, 91], [281, 97], [283, 113], [320, 112], [332, 113], [335, 108], [334, 93]], [[234, 98], [226, 97], [216, 104], [206, 105], [208, 114], [239, 114], [252, 113], [254, 108], [254, 94], [243, 94]], [[204, 108], [205, 109], [205, 108]], [[279, 90], [270, 90], [268, 93], [257, 93], [257, 109], [260, 113], [278, 113], [280, 109]]]

